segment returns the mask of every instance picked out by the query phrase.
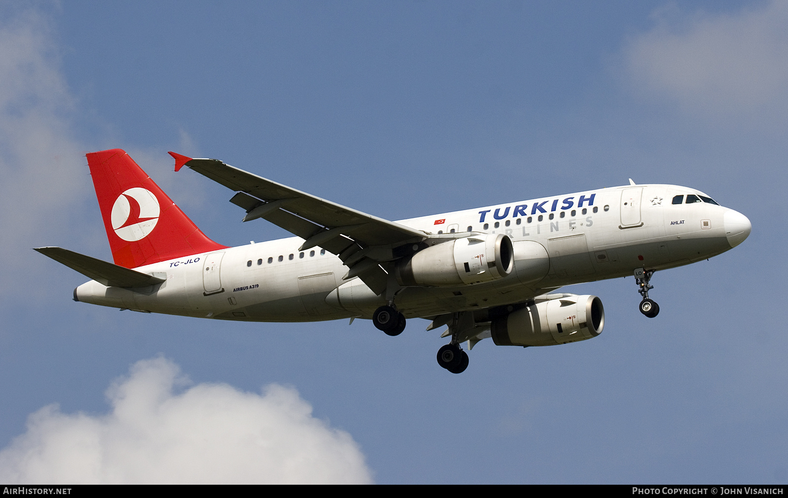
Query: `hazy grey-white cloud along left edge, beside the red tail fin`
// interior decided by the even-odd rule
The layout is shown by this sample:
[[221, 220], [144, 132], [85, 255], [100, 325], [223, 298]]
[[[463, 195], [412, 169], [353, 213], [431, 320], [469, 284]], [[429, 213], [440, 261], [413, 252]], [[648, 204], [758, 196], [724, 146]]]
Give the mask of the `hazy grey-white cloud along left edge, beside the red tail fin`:
[[[41, 276], [43, 259], [31, 247], [68, 237], [80, 219], [82, 200], [91, 194], [84, 152], [73, 138], [73, 109], [48, 18], [35, 10], [3, 17], [0, 251], [6, 255], [6, 282]], [[0, 292], [12, 287], [3, 285]], [[34, 295], [40, 292], [46, 291], [32, 289]]]

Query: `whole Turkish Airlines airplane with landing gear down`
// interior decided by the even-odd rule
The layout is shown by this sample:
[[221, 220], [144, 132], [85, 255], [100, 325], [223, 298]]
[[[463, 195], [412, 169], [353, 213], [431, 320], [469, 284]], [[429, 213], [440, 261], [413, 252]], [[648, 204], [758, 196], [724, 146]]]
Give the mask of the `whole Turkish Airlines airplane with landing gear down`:
[[598, 336], [596, 295], [557, 289], [633, 275], [654, 318], [654, 272], [742, 243], [745, 215], [693, 188], [630, 184], [388, 221], [247, 173], [169, 152], [224, 185], [246, 214], [294, 236], [227, 247], [210, 240], [121, 149], [87, 154], [114, 263], [63, 249], [43, 255], [91, 279], [73, 299], [121, 310], [232, 321], [371, 319], [446, 326], [437, 362], [466, 370], [480, 340], [549, 346]]

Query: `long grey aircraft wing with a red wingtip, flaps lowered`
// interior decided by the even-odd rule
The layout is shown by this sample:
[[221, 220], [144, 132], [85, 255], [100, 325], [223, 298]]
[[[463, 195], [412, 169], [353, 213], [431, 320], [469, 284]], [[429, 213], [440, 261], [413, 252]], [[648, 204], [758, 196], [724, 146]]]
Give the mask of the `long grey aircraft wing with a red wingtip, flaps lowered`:
[[348, 266], [347, 280], [358, 276], [374, 292], [385, 290], [380, 264], [395, 259], [396, 247], [426, 240], [425, 232], [321, 199], [217, 159], [169, 153], [175, 170], [184, 165], [236, 191], [230, 202], [247, 211], [243, 221], [262, 217], [305, 240], [299, 251], [322, 247]]

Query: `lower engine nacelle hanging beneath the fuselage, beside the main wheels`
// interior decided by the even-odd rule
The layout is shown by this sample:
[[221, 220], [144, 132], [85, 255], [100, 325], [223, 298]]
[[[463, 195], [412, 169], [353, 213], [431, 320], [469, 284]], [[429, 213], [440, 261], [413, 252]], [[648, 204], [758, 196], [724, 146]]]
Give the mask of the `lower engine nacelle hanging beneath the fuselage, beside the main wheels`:
[[604, 308], [596, 295], [550, 299], [496, 318], [490, 326], [498, 346], [552, 346], [598, 336]]

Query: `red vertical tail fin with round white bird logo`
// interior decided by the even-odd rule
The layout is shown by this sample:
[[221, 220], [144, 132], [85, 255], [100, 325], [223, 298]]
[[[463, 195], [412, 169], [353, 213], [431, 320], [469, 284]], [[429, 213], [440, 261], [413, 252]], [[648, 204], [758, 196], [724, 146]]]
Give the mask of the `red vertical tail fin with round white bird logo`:
[[205, 236], [121, 149], [87, 154], [106, 236], [126, 268], [225, 249]]

